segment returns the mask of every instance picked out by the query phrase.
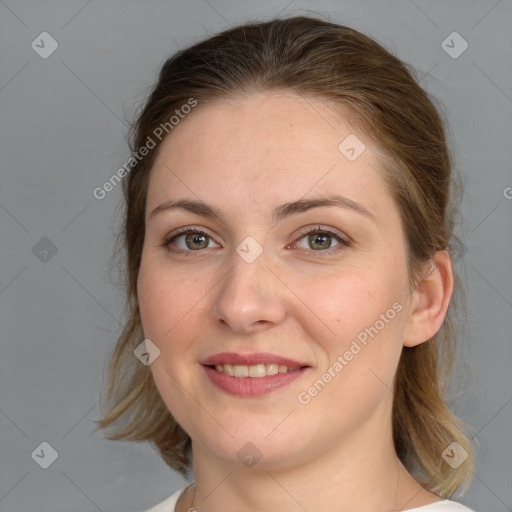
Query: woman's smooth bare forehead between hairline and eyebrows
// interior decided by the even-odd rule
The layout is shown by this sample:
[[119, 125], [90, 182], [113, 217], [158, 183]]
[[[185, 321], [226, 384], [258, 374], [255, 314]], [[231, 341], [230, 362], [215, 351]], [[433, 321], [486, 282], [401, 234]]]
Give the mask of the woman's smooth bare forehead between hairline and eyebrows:
[[364, 198], [372, 209], [386, 193], [377, 154], [329, 100], [294, 91], [216, 100], [198, 105], [162, 143], [148, 209], [171, 196], [241, 206], [309, 192]]

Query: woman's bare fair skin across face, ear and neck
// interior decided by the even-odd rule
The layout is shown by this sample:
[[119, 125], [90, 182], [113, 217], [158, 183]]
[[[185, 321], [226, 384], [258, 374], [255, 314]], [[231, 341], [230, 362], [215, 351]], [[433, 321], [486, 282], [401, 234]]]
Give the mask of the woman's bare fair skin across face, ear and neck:
[[[366, 145], [355, 161], [338, 150], [352, 133]], [[331, 194], [374, 218], [333, 206], [277, 224], [271, 218], [277, 205]], [[149, 218], [179, 198], [212, 204], [224, 220], [180, 210]], [[186, 226], [210, 238], [187, 245], [185, 234], [162, 246]], [[303, 231], [317, 226], [352, 245], [327, 236], [315, 250], [315, 237]], [[248, 236], [263, 249], [252, 263], [236, 252]], [[440, 500], [396, 456], [392, 385], [403, 346], [441, 326], [453, 277], [440, 251], [412, 289], [406, 254], [378, 149], [328, 100], [253, 93], [200, 105], [175, 127], [152, 169], [138, 298], [145, 337], [161, 351], [151, 364], [156, 386], [192, 439], [195, 499], [190, 489], [178, 512], [382, 512]], [[298, 393], [396, 302], [402, 310], [378, 335], [307, 405], [299, 403]], [[199, 361], [219, 352], [271, 352], [311, 368], [285, 388], [242, 398], [205, 375]], [[251, 468], [237, 457], [247, 442], [261, 452]]]

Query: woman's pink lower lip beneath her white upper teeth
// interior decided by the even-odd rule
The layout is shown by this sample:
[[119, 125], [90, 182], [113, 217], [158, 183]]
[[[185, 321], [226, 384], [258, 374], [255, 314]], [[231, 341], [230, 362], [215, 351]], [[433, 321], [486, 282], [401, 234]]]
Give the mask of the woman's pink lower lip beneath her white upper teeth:
[[276, 389], [288, 386], [302, 377], [308, 368], [287, 373], [277, 373], [266, 377], [231, 377], [218, 372], [209, 366], [203, 368], [210, 380], [220, 389], [236, 396], [261, 396], [272, 393]]

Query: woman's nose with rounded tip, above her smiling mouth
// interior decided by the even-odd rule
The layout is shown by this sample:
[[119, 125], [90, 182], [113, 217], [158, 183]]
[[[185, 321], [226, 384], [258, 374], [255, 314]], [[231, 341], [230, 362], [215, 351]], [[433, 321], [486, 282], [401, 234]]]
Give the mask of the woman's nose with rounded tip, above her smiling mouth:
[[248, 263], [233, 251], [230, 270], [214, 296], [213, 314], [237, 334], [268, 329], [286, 316], [287, 287], [271, 268], [265, 251]]

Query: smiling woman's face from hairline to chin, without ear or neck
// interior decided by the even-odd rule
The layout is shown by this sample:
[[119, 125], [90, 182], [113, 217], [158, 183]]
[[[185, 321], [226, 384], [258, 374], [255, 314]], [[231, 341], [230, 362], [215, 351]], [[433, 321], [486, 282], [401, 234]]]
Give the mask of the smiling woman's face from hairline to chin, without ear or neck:
[[409, 291], [376, 148], [327, 100], [199, 105], [161, 146], [138, 299], [195, 453], [284, 468], [389, 434]]

